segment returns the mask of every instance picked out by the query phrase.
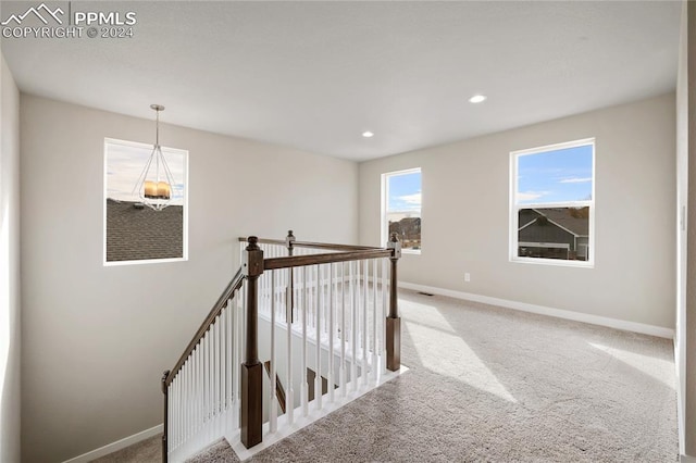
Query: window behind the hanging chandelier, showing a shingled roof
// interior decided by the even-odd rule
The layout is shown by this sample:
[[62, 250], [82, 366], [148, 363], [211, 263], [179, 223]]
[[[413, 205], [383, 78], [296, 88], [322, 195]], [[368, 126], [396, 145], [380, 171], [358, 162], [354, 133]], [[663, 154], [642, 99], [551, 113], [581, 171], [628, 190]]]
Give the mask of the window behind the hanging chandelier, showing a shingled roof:
[[152, 145], [104, 139], [104, 264], [187, 259], [188, 151], [162, 147], [173, 176], [171, 203], [154, 211], [135, 186]]

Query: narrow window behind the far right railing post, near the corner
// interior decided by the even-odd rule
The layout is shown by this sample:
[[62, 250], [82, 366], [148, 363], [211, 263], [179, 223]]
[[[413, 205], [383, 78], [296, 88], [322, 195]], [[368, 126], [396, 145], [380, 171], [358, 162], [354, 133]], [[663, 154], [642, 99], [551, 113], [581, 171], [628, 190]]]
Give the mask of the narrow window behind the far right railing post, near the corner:
[[382, 242], [393, 233], [401, 249], [421, 252], [421, 170], [382, 174]]

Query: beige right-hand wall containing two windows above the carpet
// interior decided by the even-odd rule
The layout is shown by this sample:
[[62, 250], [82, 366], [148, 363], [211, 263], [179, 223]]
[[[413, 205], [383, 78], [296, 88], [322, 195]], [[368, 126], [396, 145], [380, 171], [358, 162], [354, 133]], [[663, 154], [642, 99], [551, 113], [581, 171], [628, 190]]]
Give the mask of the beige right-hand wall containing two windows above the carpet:
[[[420, 166], [422, 254], [400, 280], [674, 328], [674, 112], [670, 93], [362, 163], [361, 243], [380, 243], [381, 174]], [[595, 267], [510, 263], [510, 151], [589, 137]]]

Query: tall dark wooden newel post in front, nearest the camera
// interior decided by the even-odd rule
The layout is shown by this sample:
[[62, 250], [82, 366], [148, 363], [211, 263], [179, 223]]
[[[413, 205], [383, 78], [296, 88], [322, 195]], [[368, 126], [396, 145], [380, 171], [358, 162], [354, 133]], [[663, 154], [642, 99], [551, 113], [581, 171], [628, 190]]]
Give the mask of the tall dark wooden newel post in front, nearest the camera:
[[243, 272], [247, 277], [247, 343], [241, 364], [240, 440], [249, 449], [260, 443], [263, 427], [263, 366], [259, 362], [259, 276], [263, 273], [263, 251], [259, 238], [250, 236], [244, 253]]

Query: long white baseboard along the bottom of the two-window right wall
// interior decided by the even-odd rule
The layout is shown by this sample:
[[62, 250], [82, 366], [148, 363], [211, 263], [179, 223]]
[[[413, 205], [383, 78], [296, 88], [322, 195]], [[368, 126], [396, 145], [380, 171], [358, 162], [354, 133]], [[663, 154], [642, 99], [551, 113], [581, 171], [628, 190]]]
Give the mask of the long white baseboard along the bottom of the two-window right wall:
[[624, 320], [609, 318], [606, 316], [591, 315], [587, 313], [573, 312], [562, 309], [547, 308], [544, 305], [529, 304], [526, 302], [510, 301], [507, 299], [492, 298], [488, 296], [474, 295], [471, 292], [455, 291], [451, 289], [437, 288], [434, 286], [417, 285], [414, 283], [399, 281], [399, 287], [415, 291], [431, 292], [433, 295], [447, 296], [455, 299], [463, 299], [473, 302], [482, 302], [492, 305], [499, 305], [506, 309], [514, 309], [522, 312], [531, 312], [539, 315], [554, 316], [556, 318], [572, 320], [574, 322], [589, 323], [592, 325], [607, 326], [609, 328], [622, 329], [624, 331], [641, 333], [644, 335], [657, 336], [659, 338], [674, 338], [674, 329], [661, 326], [646, 325]]

